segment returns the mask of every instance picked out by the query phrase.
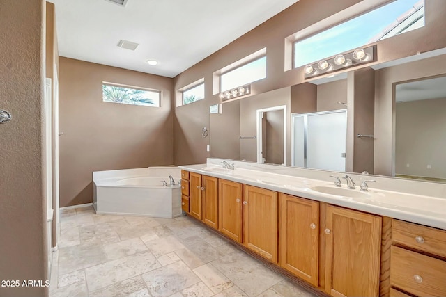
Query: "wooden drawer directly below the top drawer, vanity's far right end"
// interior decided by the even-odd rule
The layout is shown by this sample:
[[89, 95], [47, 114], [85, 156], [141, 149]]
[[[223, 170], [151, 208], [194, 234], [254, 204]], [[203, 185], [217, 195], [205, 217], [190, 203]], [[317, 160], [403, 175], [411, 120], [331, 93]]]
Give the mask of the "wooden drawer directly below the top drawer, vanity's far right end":
[[417, 296], [446, 296], [446, 262], [391, 247], [390, 283]]

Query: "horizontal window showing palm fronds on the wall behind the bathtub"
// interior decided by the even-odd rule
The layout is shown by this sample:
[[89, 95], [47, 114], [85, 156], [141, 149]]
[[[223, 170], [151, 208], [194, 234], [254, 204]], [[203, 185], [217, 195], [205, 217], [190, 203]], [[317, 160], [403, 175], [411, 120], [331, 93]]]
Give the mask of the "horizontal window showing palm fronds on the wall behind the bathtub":
[[144, 88], [126, 88], [102, 83], [102, 101], [141, 106], [160, 107], [161, 92]]

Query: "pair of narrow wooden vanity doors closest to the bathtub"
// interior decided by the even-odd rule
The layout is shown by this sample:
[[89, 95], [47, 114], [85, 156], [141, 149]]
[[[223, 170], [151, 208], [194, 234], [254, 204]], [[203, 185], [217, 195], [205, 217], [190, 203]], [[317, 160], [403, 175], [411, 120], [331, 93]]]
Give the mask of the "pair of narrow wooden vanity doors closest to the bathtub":
[[218, 228], [218, 179], [198, 173], [189, 174], [190, 215]]

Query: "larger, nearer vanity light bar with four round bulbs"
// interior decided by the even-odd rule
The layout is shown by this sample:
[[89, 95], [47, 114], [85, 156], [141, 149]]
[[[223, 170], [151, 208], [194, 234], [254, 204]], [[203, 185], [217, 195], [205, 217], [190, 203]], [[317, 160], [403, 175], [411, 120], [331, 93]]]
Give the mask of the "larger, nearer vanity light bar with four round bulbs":
[[332, 58], [318, 61], [304, 67], [305, 79], [317, 77], [322, 74], [336, 72], [341, 69], [353, 67], [360, 64], [367, 64], [375, 61], [375, 46], [355, 49], [347, 54], [339, 54]]

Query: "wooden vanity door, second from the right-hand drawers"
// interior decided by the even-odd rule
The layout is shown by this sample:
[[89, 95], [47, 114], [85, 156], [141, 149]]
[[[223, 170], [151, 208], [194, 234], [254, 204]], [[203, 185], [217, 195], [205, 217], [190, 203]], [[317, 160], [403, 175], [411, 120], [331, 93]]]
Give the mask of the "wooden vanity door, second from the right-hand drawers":
[[319, 202], [279, 194], [280, 266], [318, 286]]

